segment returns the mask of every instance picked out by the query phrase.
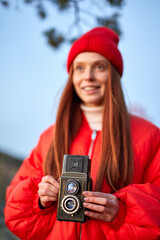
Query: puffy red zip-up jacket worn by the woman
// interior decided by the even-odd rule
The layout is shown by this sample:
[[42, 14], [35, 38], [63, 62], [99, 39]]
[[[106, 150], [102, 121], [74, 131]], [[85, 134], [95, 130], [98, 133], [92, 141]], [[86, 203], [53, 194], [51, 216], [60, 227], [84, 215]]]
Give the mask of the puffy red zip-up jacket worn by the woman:
[[[151, 123], [132, 117], [134, 150], [133, 184], [116, 192], [120, 209], [116, 219], [107, 223], [90, 219], [82, 225], [82, 240], [160, 239], [160, 132]], [[56, 220], [56, 204], [47, 209], [38, 206], [38, 183], [43, 176], [42, 162], [53, 140], [54, 127], [45, 131], [25, 159], [7, 189], [5, 222], [20, 239], [78, 240], [80, 223]], [[70, 154], [87, 155], [92, 130], [84, 118], [70, 147]], [[91, 158], [93, 184], [97, 174], [101, 146], [98, 132]], [[104, 180], [102, 192], [110, 192]]]

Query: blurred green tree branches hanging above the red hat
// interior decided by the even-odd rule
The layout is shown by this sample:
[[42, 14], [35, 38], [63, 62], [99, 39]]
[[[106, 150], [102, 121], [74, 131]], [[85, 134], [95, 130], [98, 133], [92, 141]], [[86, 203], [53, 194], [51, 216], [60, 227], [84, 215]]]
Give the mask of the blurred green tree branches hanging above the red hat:
[[[83, 33], [84, 25], [106, 26], [117, 32], [119, 36], [122, 35], [119, 11], [124, 6], [125, 0], [48, 0], [48, 4], [45, 0], [23, 1], [34, 6], [41, 19], [46, 19], [48, 16], [48, 4], [51, 4], [53, 8], [57, 7], [60, 17], [63, 17], [64, 12], [69, 11], [68, 29], [65, 32], [57, 31], [55, 26], [44, 32], [48, 44], [54, 49], [59, 48], [65, 42], [73, 43]], [[9, 0], [0, 0], [0, 3], [5, 7], [9, 6]], [[108, 9], [112, 10], [110, 16], [107, 13]], [[75, 29], [77, 35], [75, 35]]]

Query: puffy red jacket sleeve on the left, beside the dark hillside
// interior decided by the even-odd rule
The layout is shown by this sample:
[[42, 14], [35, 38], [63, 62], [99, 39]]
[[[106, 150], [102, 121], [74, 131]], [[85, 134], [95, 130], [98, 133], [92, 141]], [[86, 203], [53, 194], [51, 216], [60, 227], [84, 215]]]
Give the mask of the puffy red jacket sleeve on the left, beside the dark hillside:
[[45, 239], [56, 219], [56, 204], [43, 210], [38, 204], [43, 159], [52, 139], [53, 127], [41, 135], [37, 146], [24, 160], [6, 191], [5, 223], [20, 239]]

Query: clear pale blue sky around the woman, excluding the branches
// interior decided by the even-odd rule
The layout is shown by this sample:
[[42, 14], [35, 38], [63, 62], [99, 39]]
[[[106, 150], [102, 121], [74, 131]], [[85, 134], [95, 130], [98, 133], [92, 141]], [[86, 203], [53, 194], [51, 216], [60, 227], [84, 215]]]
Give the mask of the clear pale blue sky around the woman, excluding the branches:
[[[160, 127], [160, 1], [125, 2], [119, 49], [127, 106]], [[68, 13], [59, 18], [49, 7], [42, 21], [22, 1], [12, 1], [9, 9], [0, 6], [0, 151], [25, 158], [54, 123], [68, 77], [69, 45], [52, 50], [43, 32], [54, 24], [65, 29], [68, 19]]]

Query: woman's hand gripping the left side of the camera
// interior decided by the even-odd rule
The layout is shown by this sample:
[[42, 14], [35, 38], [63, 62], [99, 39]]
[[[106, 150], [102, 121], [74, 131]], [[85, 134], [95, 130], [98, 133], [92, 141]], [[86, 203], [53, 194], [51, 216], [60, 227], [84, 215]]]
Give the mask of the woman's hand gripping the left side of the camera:
[[52, 176], [45, 176], [38, 184], [38, 195], [43, 207], [50, 207], [53, 202], [57, 201], [59, 183]]

